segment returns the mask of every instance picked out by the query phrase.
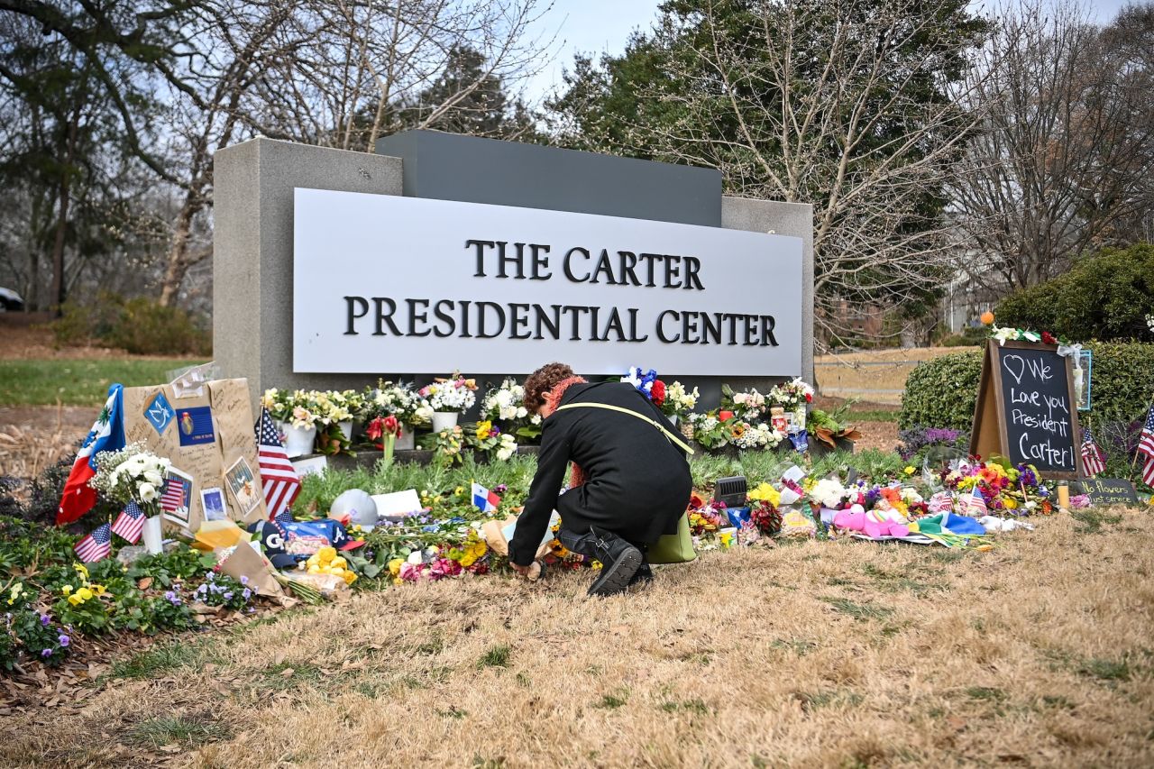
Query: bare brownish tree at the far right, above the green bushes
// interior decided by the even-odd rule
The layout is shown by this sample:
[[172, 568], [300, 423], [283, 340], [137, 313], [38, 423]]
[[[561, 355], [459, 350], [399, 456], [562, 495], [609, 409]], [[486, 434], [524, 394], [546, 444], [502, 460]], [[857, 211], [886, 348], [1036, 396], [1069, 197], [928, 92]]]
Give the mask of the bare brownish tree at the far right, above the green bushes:
[[1119, 223], [1148, 211], [1149, 51], [1126, 45], [1140, 39], [1111, 44], [1066, 2], [999, 14], [957, 94], [982, 118], [950, 186], [958, 251], [979, 282], [1044, 282], [1086, 249], [1126, 239]]

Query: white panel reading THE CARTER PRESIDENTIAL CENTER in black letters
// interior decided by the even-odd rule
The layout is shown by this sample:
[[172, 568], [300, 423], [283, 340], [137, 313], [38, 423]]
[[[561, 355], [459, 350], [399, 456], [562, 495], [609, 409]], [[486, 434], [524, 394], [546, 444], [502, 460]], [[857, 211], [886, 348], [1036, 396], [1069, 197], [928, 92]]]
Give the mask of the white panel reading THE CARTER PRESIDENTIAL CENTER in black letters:
[[293, 371], [801, 374], [800, 238], [295, 191]]

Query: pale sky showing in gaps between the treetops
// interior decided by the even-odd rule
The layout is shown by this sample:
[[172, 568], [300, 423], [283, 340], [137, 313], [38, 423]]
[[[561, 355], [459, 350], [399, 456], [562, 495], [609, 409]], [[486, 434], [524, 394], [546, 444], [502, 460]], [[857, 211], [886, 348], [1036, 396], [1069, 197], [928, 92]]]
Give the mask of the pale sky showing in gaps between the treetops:
[[[526, 83], [525, 95], [535, 100], [561, 85], [563, 67], [572, 69], [574, 54], [578, 52], [600, 55], [608, 51], [619, 55], [625, 50], [630, 32], [649, 30], [657, 17], [660, 0], [555, 0], [553, 9], [538, 23], [537, 33], [545, 40], [557, 36], [556, 58], [541, 74]], [[975, 9], [991, 7], [990, 2], [972, 3]], [[1125, 0], [1097, 0], [1085, 3], [1099, 23], [1108, 23]]]

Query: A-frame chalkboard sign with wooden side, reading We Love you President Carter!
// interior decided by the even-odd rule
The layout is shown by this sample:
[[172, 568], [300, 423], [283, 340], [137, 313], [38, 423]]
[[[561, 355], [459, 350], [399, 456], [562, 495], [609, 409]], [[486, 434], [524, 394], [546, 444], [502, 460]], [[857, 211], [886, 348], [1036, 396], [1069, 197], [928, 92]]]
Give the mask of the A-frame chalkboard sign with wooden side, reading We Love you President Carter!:
[[969, 450], [1032, 464], [1051, 478], [1082, 475], [1073, 366], [1052, 344], [990, 341]]

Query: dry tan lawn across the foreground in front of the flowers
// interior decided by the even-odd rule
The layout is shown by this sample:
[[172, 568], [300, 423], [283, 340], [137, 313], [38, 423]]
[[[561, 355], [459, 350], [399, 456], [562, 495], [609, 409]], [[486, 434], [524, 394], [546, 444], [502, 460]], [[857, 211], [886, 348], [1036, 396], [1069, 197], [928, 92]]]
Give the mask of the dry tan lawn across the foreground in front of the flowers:
[[706, 554], [593, 602], [582, 574], [366, 593], [136, 657], [80, 715], [6, 718], [0, 761], [1151, 766], [1149, 527]]

